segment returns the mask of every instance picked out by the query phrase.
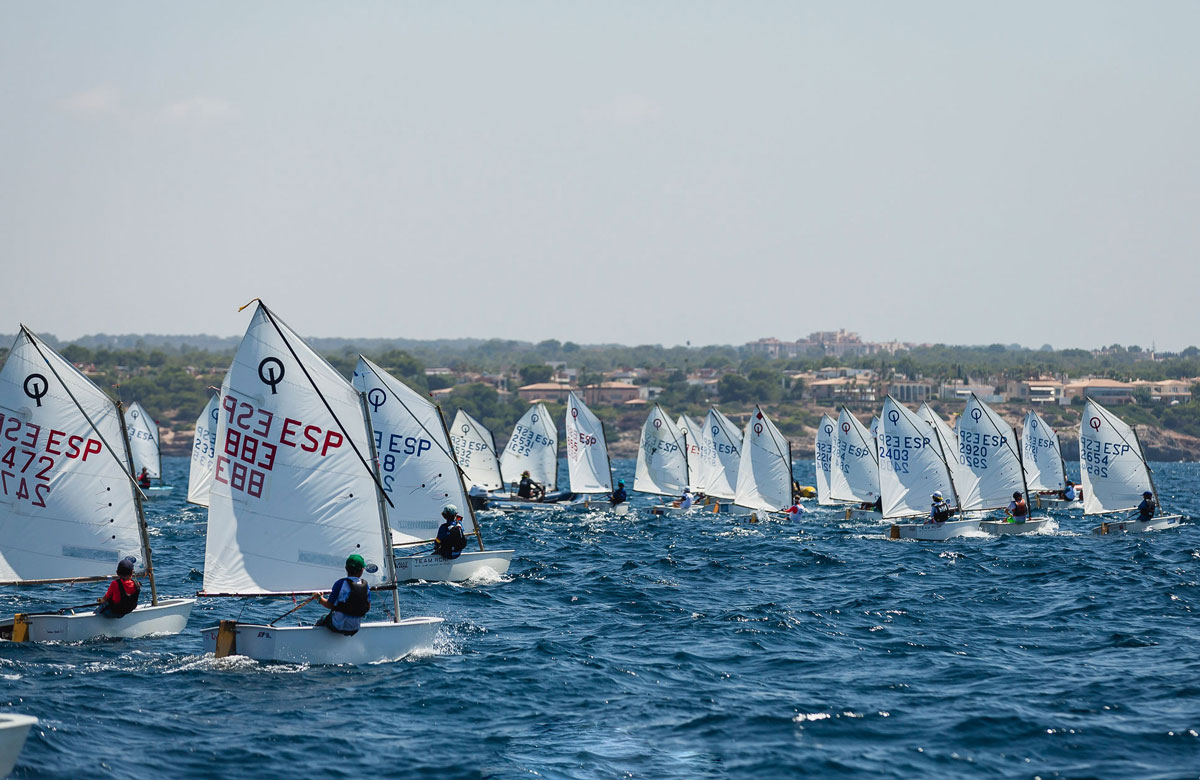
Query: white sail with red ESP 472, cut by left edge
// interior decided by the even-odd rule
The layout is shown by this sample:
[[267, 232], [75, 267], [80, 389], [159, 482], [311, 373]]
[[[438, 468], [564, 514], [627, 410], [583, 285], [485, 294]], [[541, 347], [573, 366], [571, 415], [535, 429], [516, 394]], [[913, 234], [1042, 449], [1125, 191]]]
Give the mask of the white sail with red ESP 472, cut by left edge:
[[0, 582], [145, 564], [116, 404], [22, 326], [0, 370]]

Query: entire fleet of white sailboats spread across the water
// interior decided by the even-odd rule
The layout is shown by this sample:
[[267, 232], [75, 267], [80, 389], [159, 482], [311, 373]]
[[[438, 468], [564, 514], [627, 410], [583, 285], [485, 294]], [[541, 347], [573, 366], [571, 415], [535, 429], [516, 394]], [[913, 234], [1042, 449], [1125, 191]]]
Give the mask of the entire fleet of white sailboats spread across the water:
[[[97, 616], [92, 605], [25, 612], [0, 620], [0, 637], [184, 630], [194, 599], [158, 598], [136, 480], [143, 467], [162, 480], [157, 426], [146, 410], [137, 402], [122, 409], [23, 326], [0, 368], [0, 431], [7, 446], [0, 463], [8, 467], [0, 480], [0, 586], [103, 581], [126, 557], [150, 586], [149, 602], [122, 618]], [[563, 438], [571, 492], [610, 493], [604, 424], [574, 392]], [[446, 426], [437, 404], [365, 356], [347, 382], [259, 302], [220, 394], [197, 419], [187, 500], [208, 508], [199, 595], [325, 593], [346, 556], [356, 553], [367, 562], [364, 578], [390, 594], [391, 608], [384, 604], [386, 619], [364, 623], [353, 636], [277, 619], [221, 620], [202, 630], [205, 649], [359, 664], [431, 648], [443, 620], [402, 618], [400, 583], [504, 574], [514, 551], [485, 546], [468, 486], [494, 493], [528, 473], [553, 491], [558, 443], [544, 403], [530, 406], [498, 452], [491, 432], [464, 409]], [[1136, 432], [1090, 398], [1079, 445], [1084, 514], [1102, 518], [1096, 534], [1180, 524], [1180, 515], [1162, 512]], [[1049, 518], [989, 512], [1038, 499], [1064, 504], [1066, 469], [1050, 425], [1031, 410], [1018, 436], [974, 395], [953, 428], [929, 403], [912, 412], [888, 396], [870, 427], [842, 407], [836, 420], [821, 418], [814, 463], [820, 505], [845, 506], [848, 520], [890, 521], [892, 539], [1034, 533]], [[758, 406], [739, 430], [715, 407], [698, 424], [688, 415], [672, 420], [654, 404], [632, 487], [664, 497], [690, 490], [756, 515], [781, 512], [794, 500], [791, 448]], [[92, 499], [97, 493], [103, 504]], [[935, 496], [953, 514], [944, 522], [929, 520]], [[463, 530], [479, 550], [452, 559], [396, 552], [432, 542], [448, 504], [462, 508]], [[1148, 512], [1129, 516], [1147, 505]]]

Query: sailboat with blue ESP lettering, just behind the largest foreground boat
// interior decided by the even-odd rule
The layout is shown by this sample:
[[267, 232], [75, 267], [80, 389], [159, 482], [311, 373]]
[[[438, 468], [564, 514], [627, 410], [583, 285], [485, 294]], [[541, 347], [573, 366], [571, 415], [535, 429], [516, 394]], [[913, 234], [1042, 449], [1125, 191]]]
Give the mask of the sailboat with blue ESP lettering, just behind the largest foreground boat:
[[388, 526], [392, 547], [427, 545], [437, 538], [442, 508], [454, 504], [463, 514], [463, 533], [474, 536], [478, 551], [457, 558], [439, 554], [396, 559], [400, 582], [463, 582], [485, 570], [504, 574], [511, 550], [487, 550], [437, 404], [359, 355], [354, 388], [364, 394], [371, 413], [379, 476], [390, 499]]

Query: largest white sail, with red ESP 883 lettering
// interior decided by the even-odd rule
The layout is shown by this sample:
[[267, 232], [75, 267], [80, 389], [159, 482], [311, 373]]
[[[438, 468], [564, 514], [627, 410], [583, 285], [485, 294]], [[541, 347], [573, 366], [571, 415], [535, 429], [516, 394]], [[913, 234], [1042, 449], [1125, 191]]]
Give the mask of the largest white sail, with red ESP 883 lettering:
[[390, 545], [358, 390], [259, 304], [221, 385], [204, 590], [329, 588], [362, 556], [390, 580]]

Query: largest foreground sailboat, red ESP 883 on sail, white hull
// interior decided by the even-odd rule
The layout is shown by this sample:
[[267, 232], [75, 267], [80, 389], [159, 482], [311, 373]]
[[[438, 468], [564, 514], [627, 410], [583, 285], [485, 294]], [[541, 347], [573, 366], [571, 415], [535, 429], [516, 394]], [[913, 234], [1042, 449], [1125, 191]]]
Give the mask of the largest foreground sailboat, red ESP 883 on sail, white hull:
[[281, 618], [221, 620], [203, 629], [205, 650], [368, 664], [432, 649], [442, 618], [400, 618], [388, 498], [362, 394], [258, 302], [220, 408], [200, 595], [326, 593], [344, 575], [347, 556], [358, 553], [371, 588], [391, 590], [392, 619], [365, 620], [354, 636], [274, 625]]

